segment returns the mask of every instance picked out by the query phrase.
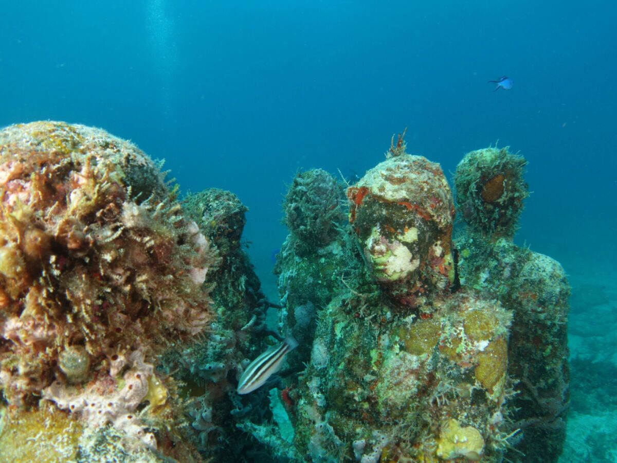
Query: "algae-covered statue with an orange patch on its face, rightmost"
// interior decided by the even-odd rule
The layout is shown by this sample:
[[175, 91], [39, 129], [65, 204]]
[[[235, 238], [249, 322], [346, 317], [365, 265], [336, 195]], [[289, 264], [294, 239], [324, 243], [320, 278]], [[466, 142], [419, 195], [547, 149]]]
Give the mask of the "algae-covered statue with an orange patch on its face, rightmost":
[[527, 198], [526, 161], [507, 148], [472, 151], [455, 173], [465, 227], [458, 230], [463, 286], [513, 312], [508, 374], [516, 381], [511, 426], [520, 429], [511, 461], [557, 461], [568, 409], [569, 285], [559, 262], [512, 242]]

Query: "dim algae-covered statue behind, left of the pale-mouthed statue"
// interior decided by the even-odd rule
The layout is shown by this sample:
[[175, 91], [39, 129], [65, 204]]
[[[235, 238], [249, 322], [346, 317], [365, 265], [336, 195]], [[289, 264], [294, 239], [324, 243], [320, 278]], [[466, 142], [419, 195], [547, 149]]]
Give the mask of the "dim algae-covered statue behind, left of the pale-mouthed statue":
[[299, 343], [288, 361], [302, 364], [310, 357], [317, 311], [345, 288], [347, 278], [361, 271], [361, 259], [347, 224], [342, 184], [325, 170], [297, 173], [283, 211], [289, 235], [276, 256], [275, 273], [287, 309], [280, 319]]

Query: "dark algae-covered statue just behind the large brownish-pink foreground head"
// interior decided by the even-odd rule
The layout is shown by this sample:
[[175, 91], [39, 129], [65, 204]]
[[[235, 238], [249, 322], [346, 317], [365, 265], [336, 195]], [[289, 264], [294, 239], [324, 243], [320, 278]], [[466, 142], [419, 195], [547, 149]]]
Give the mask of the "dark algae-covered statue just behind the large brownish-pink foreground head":
[[[242, 245], [247, 207], [229, 191], [208, 188], [189, 194], [182, 202], [220, 257], [217, 269], [208, 273], [215, 322], [207, 336], [176, 346], [165, 354], [161, 369], [191, 390], [188, 401], [191, 441], [207, 461], [251, 460], [262, 451], [246, 439], [243, 423], [270, 419], [268, 388], [252, 394], [236, 393], [238, 379], [249, 364], [267, 349], [267, 341], [282, 339], [267, 325], [268, 302], [259, 278]], [[276, 306], [278, 307], [278, 306]], [[275, 378], [273, 378], [275, 380]]]

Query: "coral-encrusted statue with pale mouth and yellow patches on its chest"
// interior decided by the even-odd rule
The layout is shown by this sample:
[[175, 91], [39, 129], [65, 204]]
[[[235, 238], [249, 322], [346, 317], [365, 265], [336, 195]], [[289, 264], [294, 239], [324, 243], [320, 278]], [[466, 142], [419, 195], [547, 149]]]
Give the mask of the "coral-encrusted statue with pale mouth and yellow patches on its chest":
[[[500, 461], [511, 312], [456, 284], [453, 199], [439, 165], [405, 154], [402, 139], [389, 155], [348, 190], [364, 259], [343, 252], [328, 273], [344, 277], [342, 263], [354, 259], [365, 270], [347, 273], [316, 314], [310, 362], [292, 394], [297, 453]], [[347, 236], [339, 227], [330, 246], [350, 249]], [[286, 274], [302, 281], [307, 259], [284, 259]], [[296, 287], [286, 290], [295, 313]]]

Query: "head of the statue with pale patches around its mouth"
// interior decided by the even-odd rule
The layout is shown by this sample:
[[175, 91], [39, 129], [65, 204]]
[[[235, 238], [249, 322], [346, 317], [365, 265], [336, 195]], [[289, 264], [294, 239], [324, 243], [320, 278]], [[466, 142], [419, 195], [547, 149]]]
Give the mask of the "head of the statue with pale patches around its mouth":
[[405, 306], [455, 282], [450, 250], [454, 204], [439, 164], [391, 156], [349, 188], [350, 222], [375, 277]]

